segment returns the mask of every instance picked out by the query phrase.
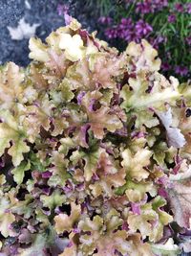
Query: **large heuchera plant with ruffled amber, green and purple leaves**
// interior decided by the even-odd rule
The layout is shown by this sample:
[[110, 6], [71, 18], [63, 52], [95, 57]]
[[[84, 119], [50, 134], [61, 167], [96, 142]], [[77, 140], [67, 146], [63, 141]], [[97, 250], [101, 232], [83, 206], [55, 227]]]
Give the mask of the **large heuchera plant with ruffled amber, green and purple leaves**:
[[66, 18], [0, 69], [1, 255], [190, 251], [190, 87]]

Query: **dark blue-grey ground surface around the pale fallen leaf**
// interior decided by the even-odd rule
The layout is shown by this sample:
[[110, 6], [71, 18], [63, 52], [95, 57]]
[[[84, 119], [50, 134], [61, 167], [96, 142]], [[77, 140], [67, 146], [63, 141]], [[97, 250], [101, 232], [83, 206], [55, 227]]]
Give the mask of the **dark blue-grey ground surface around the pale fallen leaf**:
[[96, 28], [96, 12], [90, 10], [86, 1], [74, 0], [0, 0], [0, 64], [14, 61], [26, 66], [30, 59], [29, 38], [15, 40], [11, 38], [8, 27], [18, 27], [24, 18], [30, 26], [39, 24], [35, 35], [44, 39], [53, 30], [64, 26], [63, 15], [58, 15], [57, 6], [68, 5], [71, 15], [76, 17], [85, 28], [94, 31]]

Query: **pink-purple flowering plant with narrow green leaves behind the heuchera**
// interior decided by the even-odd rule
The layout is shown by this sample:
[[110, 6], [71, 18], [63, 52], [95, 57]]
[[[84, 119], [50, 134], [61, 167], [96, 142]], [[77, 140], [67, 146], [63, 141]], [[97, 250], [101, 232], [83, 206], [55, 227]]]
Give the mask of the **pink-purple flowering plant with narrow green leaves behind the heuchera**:
[[191, 78], [190, 0], [97, 0], [97, 7], [97, 31], [111, 44], [124, 49], [145, 38], [159, 51], [162, 74]]

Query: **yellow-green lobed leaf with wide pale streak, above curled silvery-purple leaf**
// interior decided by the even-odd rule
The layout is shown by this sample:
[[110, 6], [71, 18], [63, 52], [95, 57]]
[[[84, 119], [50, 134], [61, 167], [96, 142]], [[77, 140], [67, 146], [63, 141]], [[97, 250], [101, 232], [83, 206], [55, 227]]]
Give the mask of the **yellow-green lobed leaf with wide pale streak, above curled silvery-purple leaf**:
[[[170, 77], [171, 83], [159, 74], [155, 74], [155, 84], [150, 93], [147, 93], [148, 81], [143, 75], [138, 75], [137, 79], [129, 79], [129, 85], [134, 91], [130, 90], [129, 85], [124, 85], [121, 90], [123, 98], [122, 107], [129, 111], [130, 109], [143, 110], [149, 107], [160, 109], [167, 102], [174, 104], [175, 100], [180, 98], [178, 91], [179, 81]], [[148, 111], [148, 110], [147, 110]]]

